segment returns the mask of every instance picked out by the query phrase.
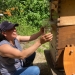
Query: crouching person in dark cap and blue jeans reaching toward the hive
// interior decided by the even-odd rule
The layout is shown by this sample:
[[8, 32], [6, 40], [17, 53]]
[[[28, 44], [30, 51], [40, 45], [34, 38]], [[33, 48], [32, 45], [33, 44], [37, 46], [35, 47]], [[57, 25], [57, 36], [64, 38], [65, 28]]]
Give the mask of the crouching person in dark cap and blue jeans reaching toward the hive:
[[[35, 51], [44, 43], [51, 41], [53, 35], [51, 33], [44, 34], [44, 29], [31, 36], [21, 36], [17, 34], [16, 27], [8, 21], [0, 24], [0, 72], [2, 75], [40, 75], [38, 66], [24, 66], [23, 61], [35, 57]], [[40, 38], [38, 38], [40, 37]], [[38, 39], [37, 39], [38, 38]], [[22, 49], [20, 42], [35, 40], [35, 43], [27, 49]]]

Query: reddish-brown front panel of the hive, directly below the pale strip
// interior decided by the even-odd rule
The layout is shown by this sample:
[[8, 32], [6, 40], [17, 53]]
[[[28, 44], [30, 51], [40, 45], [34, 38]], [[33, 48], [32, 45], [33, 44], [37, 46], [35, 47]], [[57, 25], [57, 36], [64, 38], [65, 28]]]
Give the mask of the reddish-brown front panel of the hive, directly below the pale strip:
[[56, 49], [63, 49], [67, 44], [75, 44], [75, 26], [58, 28]]

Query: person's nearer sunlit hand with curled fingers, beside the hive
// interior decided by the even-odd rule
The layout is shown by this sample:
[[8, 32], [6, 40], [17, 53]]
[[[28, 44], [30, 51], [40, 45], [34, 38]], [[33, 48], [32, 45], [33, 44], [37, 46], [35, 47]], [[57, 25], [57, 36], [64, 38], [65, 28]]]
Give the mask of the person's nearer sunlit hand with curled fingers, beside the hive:
[[44, 34], [40, 37], [40, 43], [44, 44], [48, 41], [51, 41], [52, 38], [53, 38], [53, 34], [51, 34], [51, 33]]

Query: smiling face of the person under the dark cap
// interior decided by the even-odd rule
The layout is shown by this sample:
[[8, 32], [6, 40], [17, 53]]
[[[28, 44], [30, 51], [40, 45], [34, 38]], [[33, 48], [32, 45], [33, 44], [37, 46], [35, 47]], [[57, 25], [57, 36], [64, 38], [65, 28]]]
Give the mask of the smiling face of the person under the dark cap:
[[16, 37], [17, 37], [16, 28], [13, 27], [12, 29], [3, 32], [3, 35], [4, 35], [7, 39], [14, 39], [14, 38], [16, 38]]

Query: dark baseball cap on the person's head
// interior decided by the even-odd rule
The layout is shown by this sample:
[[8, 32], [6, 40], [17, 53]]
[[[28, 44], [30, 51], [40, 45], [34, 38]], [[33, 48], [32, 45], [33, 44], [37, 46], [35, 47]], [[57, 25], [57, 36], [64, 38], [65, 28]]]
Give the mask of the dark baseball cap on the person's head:
[[19, 24], [12, 24], [8, 21], [4, 21], [0, 24], [0, 30], [1, 31], [7, 31], [7, 30], [10, 30], [12, 29], [13, 27], [16, 27], [18, 26]]

